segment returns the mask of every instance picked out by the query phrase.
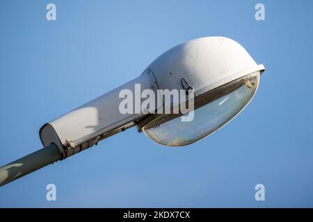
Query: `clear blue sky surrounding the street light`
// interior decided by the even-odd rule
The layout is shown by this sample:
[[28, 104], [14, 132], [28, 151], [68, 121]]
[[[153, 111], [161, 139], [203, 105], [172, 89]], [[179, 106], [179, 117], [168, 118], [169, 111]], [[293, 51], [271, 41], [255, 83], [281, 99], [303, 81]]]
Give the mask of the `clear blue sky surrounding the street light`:
[[[41, 148], [42, 124], [187, 40], [230, 37], [266, 67], [255, 99], [218, 133], [166, 148], [131, 128], [0, 187], [0, 207], [313, 207], [313, 1], [0, 5], [0, 165]], [[255, 200], [258, 183], [265, 201]]]

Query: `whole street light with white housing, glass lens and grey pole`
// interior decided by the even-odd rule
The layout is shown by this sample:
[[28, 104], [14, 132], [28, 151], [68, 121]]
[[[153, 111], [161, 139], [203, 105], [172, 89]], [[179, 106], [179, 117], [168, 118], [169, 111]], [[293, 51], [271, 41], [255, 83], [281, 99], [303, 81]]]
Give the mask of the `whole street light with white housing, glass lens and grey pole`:
[[[138, 78], [42, 126], [39, 134], [45, 148], [1, 167], [0, 185], [132, 126], [159, 144], [192, 144], [214, 133], [248, 105], [263, 71], [263, 65], [257, 65], [240, 44], [226, 37], [202, 37], [179, 44], [154, 60]], [[161, 103], [150, 104], [145, 112], [120, 112], [121, 92], [138, 94], [138, 86], [143, 92], [154, 92], [155, 100]], [[164, 100], [160, 89], [185, 90], [192, 96], [182, 99], [180, 94], [177, 104]], [[168, 107], [174, 110], [173, 104], [180, 108], [190, 101], [194, 105], [192, 121], [182, 121], [180, 117], [186, 113], [181, 110], [176, 114], [155, 112]], [[134, 106], [137, 102], [135, 98]]]

